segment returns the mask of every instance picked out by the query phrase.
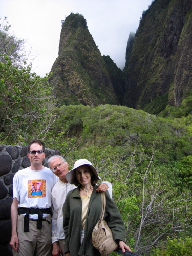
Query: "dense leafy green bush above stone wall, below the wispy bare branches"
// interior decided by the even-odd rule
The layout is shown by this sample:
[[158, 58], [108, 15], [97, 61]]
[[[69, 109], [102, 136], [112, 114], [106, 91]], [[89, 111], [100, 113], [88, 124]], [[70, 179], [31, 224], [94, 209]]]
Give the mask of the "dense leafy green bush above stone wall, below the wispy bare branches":
[[29, 66], [14, 66], [10, 60], [0, 63], [0, 69], [2, 138], [20, 144], [31, 133], [45, 135], [55, 117], [48, 77], [40, 78]]

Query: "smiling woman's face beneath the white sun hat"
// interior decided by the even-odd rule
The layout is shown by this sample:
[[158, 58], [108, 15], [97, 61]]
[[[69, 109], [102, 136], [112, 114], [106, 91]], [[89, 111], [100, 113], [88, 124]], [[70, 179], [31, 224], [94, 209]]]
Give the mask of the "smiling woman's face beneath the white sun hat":
[[87, 165], [76, 168], [76, 177], [82, 186], [91, 185], [91, 172]]

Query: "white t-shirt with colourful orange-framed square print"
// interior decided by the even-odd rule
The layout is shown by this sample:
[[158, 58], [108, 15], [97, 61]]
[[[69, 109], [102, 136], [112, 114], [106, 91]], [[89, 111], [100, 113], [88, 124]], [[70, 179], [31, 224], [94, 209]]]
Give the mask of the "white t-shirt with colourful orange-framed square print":
[[[57, 181], [58, 177], [47, 167], [41, 170], [29, 167], [19, 170], [13, 178], [13, 198], [19, 201], [18, 207], [50, 208], [51, 191]], [[29, 217], [37, 219], [38, 215]]]

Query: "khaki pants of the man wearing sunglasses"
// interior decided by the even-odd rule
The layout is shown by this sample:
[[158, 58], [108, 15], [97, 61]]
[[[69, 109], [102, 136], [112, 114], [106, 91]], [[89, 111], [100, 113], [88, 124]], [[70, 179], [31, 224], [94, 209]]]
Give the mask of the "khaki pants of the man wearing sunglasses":
[[[24, 215], [18, 215], [18, 252], [13, 256], [52, 256], [51, 215], [42, 222], [42, 229], [37, 229], [37, 222], [29, 219], [29, 232], [24, 232]], [[50, 223], [50, 224], [49, 224]]]

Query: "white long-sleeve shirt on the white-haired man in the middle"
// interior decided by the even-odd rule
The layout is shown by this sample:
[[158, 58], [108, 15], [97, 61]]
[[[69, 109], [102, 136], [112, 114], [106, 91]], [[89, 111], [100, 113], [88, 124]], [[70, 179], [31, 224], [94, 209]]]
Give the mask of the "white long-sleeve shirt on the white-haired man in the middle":
[[[112, 184], [110, 182], [104, 181], [108, 185], [108, 193], [112, 198]], [[63, 213], [62, 206], [66, 200], [66, 196], [69, 191], [77, 188], [75, 185], [64, 183], [59, 180], [52, 189], [51, 192], [51, 201], [52, 201], [52, 243], [58, 241], [58, 239], [64, 239], [64, 230], [63, 230]]]

